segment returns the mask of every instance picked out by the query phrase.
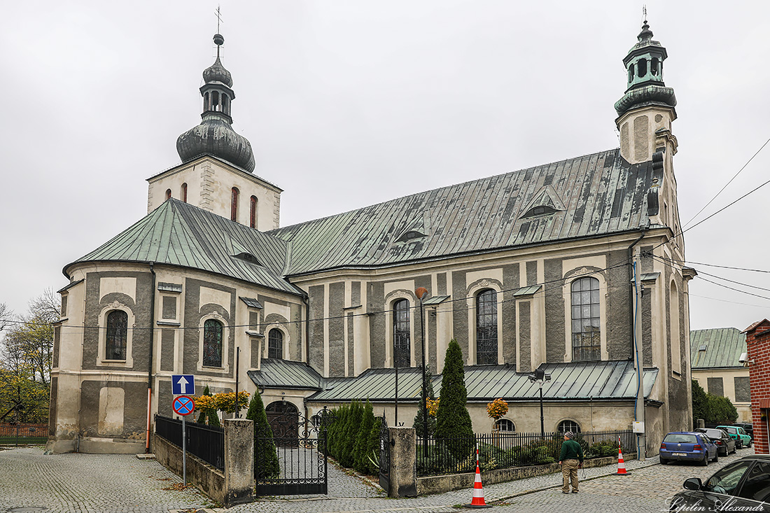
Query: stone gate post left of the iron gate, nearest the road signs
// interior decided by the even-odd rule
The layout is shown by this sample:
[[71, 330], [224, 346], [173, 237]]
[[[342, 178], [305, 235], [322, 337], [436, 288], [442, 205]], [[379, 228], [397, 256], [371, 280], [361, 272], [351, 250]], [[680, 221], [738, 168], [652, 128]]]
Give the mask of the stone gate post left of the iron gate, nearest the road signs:
[[254, 498], [254, 423], [245, 418], [225, 420], [225, 506]]

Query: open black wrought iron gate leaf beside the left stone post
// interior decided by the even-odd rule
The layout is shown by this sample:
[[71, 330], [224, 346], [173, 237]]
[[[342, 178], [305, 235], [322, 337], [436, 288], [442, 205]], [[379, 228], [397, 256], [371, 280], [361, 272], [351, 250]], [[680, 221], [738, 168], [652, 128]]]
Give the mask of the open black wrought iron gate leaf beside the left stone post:
[[326, 494], [326, 428], [331, 419], [325, 407], [313, 421], [292, 411], [271, 419], [273, 437], [254, 439], [256, 495]]

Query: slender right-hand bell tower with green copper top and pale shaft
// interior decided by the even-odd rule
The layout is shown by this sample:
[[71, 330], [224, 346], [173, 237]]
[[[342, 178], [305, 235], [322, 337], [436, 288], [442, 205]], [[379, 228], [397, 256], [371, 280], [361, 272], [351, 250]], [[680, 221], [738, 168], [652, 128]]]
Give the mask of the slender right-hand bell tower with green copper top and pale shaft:
[[621, 139], [621, 156], [629, 163], [647, 162], [652, 154], [665, 152], [667, 160], [677, 149], [671, 122], [676, 119], [674, 89], [663, 82], [663, 62], [668, 57], [660, 42], [652, 40], [647, 21], [638, 42], [623, 59], [628, 76], [625, 94], [615, 102]]

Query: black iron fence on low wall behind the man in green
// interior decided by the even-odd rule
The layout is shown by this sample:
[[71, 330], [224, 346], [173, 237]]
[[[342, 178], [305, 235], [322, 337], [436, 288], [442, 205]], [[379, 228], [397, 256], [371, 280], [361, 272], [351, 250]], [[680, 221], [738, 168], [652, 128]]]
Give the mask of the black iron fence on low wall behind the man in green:
[[[618, 438], [624, 452], [635, 447], [631, 431], [583, 431], [575, 440], [581, 444], [585, 458], [601, 458], [618, 454]], [[427, 456], [423, 438], [417, 438], [417, 475], [456, 474], [476, 469], [476, 448], [482, 470], [525, 467], [559, 461], [561, 433], [476, 434], [474, 438], [428, 438]]]

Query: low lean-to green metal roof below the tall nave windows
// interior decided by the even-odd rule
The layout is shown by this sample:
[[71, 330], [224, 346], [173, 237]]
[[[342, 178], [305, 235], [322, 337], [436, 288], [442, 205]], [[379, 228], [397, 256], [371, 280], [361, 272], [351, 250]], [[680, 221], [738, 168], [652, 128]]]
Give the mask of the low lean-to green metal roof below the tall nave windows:
[[[543, 397], [548, 401], [618, 400], [636, 396], [636, 374], [629, 360], [542, 364], [540, 368], [551, 373], [551, 381], [543, 385]], [[657, 368], [644, 369], [644, 397], [649, 396], [657, 377]], [[440, 396], [441, 376], [430, 379]], [[399, 401], [418, 401], [420, 382], [419, 368], [400, 369]], [[369, 369], [359, 377], [329, 379], [324, 390], [313, 394], [308, 401], [393, 401], [395, 384], [394, 369]], [[468, 401], [490, 401], [497, 397], [507, 401], [532, 401], [539, 397], [539, 385], [510, 365], [465, 367], [465, 387]]]

